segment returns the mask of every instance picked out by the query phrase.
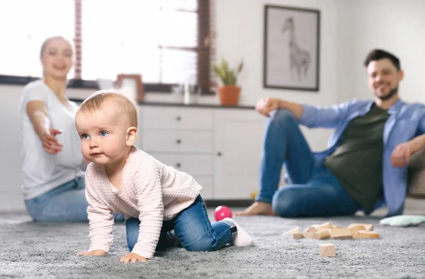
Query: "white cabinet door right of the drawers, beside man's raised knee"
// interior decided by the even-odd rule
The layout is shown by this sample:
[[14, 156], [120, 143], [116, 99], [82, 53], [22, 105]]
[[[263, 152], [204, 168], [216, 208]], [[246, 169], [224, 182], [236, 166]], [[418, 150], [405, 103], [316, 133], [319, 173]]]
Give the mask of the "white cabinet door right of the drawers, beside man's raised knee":
[[259, 189], [265, 118], [244, 110], [215, 110], [214, 198], [250, 198]]

